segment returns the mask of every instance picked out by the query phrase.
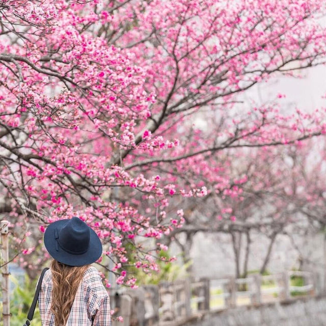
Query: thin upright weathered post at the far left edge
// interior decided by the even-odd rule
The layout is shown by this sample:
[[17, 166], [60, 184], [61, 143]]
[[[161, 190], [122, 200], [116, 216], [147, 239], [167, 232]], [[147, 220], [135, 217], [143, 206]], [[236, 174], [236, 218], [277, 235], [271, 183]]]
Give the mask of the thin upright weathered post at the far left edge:
[[10, 326], [10, 299], [9, 299], [9, 241], [8, 221], [1, 221], [1, 252], [2, 252], [2, 300], [4, 326]]

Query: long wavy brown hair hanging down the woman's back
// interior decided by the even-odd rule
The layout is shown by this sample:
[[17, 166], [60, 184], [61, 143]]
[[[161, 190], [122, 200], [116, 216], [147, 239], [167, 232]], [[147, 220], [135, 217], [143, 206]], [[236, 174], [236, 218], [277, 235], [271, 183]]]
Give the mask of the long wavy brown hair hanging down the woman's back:
[[55, 315], [55, 325], [64, 326], [83, 275], [89, 265], [68, 266], [53, 259], [52, 270], [52, 304], [51, 312]]

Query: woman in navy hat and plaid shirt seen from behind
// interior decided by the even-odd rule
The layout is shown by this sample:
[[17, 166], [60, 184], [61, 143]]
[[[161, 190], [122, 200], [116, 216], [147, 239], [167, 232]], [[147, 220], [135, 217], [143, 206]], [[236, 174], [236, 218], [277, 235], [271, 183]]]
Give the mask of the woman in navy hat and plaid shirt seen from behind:
[[97, 234], [82, 220], [51, 223], [44, 233], [52, 256], [39, 294], [42, 326], [111, 326], [110, 298], [90, 264], [102, 254]]

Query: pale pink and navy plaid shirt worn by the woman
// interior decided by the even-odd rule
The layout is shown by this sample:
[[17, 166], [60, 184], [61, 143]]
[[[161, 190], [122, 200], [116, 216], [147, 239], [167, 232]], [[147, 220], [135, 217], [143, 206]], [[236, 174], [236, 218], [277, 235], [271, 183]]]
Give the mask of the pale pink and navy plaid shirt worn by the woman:
[[[56, 326], [50, 311], [52, 303], [52, 274], [48, 269], [39, 294], [42, 326]], [[90, 266], [76, 292], [66, 326], [111, 326], [110, 298], [98, 270]]]

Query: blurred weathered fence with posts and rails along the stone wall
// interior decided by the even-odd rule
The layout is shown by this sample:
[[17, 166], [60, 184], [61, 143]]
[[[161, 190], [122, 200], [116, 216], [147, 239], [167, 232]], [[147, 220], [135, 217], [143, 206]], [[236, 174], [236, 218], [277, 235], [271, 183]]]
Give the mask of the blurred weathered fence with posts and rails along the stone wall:
[[243, 279], [162, 282], [158, 286], [111, 293], [111, 305], [117, 311], [115, 315], [124, 318], [124, 326], [177, 326], [205, 314], [288, 302], [313, 297], [317, 292], [314, 273], [286, 271]]

